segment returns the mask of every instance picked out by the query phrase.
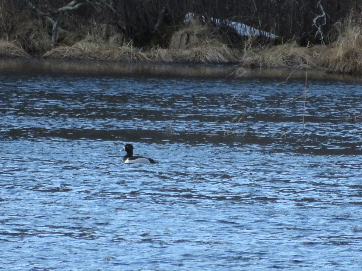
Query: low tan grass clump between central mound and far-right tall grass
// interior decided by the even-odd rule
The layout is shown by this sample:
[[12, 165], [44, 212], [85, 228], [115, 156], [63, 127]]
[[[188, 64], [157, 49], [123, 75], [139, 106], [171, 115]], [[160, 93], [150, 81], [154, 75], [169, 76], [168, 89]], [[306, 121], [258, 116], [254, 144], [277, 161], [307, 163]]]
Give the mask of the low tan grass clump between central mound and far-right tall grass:
[[310, 48], [300, 47], [296, 42], [259, 50], [247, 50], [242, 62], [244, 65], [264, 68], [312, 68], [316, 66]]

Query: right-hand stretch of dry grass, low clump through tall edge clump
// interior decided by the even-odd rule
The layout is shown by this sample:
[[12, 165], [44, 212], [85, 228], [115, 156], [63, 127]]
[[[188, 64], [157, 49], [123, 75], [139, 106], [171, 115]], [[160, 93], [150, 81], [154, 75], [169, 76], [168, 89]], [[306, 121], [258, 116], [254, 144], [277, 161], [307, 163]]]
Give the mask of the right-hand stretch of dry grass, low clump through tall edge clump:
[[[268, 48], [245, 46], [243, 66], [315, 68], [331, 73], [362, 74], [362, 20], [349, 16], [335, 24], [336, 41], [300, 47], [295, 42]], [[243, 70], [240, 69], [239, 73]]]

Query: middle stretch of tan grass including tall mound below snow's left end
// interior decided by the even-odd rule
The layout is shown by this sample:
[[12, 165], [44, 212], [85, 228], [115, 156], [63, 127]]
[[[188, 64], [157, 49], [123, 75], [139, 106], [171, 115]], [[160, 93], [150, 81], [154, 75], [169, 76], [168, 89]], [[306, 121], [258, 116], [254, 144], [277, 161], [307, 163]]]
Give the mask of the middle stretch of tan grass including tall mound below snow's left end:
[[201, 63], [236, 62], [237, 53], [212, 35], [210, 27], [190, 25], [176, 32], [170, 48], [153, 47], [148, 51], [132, 46], [122, 35], [112, 35], [105, 41], [102, 36], [87, 35], [72, 46], [58, 46], [44, 54], [52, 58], [98, 59], [110, 61], [194, 61]]

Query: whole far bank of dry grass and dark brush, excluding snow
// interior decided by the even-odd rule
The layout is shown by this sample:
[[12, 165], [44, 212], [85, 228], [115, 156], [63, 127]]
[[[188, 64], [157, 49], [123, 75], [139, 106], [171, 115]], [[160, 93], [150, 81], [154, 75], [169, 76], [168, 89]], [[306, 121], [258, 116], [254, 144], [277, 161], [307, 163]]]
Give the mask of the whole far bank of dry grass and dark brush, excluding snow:
[[[362, 74], [361, 7], [352, 0], [7, 0], [0, 1], [0, 56]], [[186, 22], [189, 12], [199, 15]], [[230, 22], [277, 37], [240, 35]]]

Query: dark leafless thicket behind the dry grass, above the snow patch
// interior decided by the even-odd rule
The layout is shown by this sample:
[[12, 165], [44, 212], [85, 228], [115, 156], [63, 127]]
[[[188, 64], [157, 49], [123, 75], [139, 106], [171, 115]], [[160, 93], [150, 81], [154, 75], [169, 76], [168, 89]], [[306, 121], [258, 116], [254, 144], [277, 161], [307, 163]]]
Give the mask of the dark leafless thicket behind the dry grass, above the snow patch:
[[[351, 10], [358, 12], [360, 6], [356, 0], [6, 0], [0, 7], [0, 36], [19, 40], [26, 51], [36, 52], [32, 39], [52, 34], [53, 25], [46, 17], [59, 20], [61, 29], [78, 37], [102, 26], [105, 37], [122, 34], [137, 47], [165, 47], [189, 12], [245, 23], [306, 43], [315, 40], [316, 33], [317, 39], [320, 34], [327, 41], [333, 38], [329, 36], [333, 24], [348, 17]], [[70, 9], [60, 12], [64, 7]], [[323, 13], [325, 17], [317, 17]]]

